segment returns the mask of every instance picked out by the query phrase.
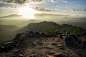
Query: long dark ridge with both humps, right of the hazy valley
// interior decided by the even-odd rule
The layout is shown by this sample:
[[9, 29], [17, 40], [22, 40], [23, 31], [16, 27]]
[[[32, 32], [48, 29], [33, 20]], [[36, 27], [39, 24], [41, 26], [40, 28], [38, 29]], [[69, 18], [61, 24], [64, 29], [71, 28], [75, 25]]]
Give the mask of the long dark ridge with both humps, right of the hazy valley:
[[60, 31], [61, 33], [73, 32], [77, 29], [79, 29], [80, 32], [83, 32], [83, 30], [84, 30], [81, 27], [76, 27], [76, 26], [72, 26], [72, 25], [68, 25], [68, 24], [59, 25], [59, 24], [54, 23], [54, 22], [43, 21], [40, 23], [30, 23], [18, 31], [19, 32], [26, 32], [26, 31], [31, 30], [34, 32], [36, 32], [36, 31], [37, 32], [43, 32], [44, 28], [51, 28], [51, 27], [54, 27], [57, 31]]

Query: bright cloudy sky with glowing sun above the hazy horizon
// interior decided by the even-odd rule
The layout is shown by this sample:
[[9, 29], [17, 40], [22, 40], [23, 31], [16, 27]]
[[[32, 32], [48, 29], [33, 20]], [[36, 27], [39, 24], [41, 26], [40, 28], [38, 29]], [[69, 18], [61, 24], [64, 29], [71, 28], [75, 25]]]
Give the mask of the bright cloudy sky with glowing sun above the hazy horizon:
[[0, 19], [42, 17], [86, 18], [86, 0], [0, 0]]

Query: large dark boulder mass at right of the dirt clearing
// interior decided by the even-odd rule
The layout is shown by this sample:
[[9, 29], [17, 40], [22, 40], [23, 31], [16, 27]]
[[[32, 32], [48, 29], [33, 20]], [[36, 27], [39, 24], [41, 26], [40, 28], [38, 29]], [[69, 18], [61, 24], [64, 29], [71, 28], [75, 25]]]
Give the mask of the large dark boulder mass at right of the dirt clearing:
[[72, 46], [74, 48], [83, 48], [84, 43], [78, 38], [76, 35], [69, 34], [68, 36], [64, 37], [65, 45]]

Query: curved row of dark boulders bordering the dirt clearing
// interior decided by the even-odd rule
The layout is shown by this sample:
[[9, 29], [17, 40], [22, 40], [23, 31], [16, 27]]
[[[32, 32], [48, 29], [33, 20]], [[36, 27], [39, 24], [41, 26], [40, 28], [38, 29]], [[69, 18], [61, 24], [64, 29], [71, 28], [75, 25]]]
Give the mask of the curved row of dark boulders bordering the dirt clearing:
[[[4, 43], [4, 48], [0, 47], [0, 52], [5, 52], [5, 51], [9, 51], [15, 47], [18, 47], [18, 45], [22, 44], [22, 42], [20, 43], [20, 41], [24, 40], [24, 39], [30, 39], [30, 38], [41, 38], [41, 37], [58, 37], [61, 40], [64, 40], [64, 44], [65, 46], [69, 47], [74, 47], [74, 48], [83, 48], [84, 45], [86, 45], [86, 41], [82, 42], [80, 38], [78, 38], [76, 35], [73, 34], [62, 34], [62, 33], [58, 33], [56, 32], [56, 34], [49, 34], [49, 33], [39, 33], [39, 32], [33, 32], [33, 31], [27, 31], [26, 33], [18, 33], [15, 38], [7, 43]], [[47, 41], [47, 40], [46, 40]], [[38, 43], [38, 45], [40, 45], [43, 43]], [[31, 44], [32, 46], [36, 46], [35, 43]], [[52, 43], [51, 45], [57, 45], [57, 43]], [[59, 45], [57, 46], [59, 47]], [[47, 47], [45, 47], [47, 48]], [[64, 46], [60, 47], [61, 49], [64, 49]]]

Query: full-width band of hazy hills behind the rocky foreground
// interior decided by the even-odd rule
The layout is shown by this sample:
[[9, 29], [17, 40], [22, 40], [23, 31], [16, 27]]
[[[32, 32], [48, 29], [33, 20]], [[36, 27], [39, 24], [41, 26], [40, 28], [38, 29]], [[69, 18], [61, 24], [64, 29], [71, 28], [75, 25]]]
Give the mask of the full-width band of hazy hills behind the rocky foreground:
[[68, 24], [59, 25], [57, 23], [47, 21], [30, 23], [21, 29], [14, 25], [0, 25], [0, 44], [2, 42], [14, 39], [17, 33], [26, 33], [26, 31], [44, 32], [44, 28], [51, 29], [52, 27], [55, 28], [55, 31], [64, 34], [70, 32], [71, 34], [79, 34], [80, 36], [83, 36], [86, 33], [86, 30], [81, 27], [76, 27]]

